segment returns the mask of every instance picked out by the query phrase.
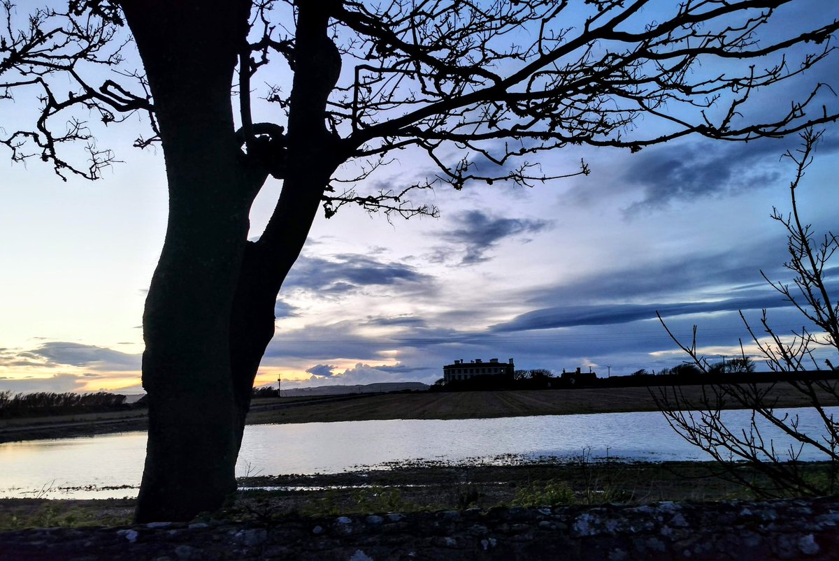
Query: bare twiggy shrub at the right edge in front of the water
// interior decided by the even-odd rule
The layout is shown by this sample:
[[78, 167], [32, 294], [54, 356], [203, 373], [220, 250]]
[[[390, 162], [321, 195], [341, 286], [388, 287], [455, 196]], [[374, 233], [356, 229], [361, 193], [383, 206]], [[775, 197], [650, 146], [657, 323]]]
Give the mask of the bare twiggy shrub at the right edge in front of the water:
[[[789, 184], [792, 210], [789, 215], [777, 208], [772, 213], [772, 218], [787, 231], [789, 261], [784, 263], [784, 268], [795, 277], [791, 284], [780, 283], [769, 280], [761, 271], [766, 282], [800, 312], [805, 325], [789, 334], [781, 333], [770, 325], [764, 309], [760, 319], [762, 330], [754, 330], [740, 312], [758, 356], [778, 373], [779, 382], [743, 383], [740, 382], [743, 377], [738, 377], [739, 383], [703, 386], [698, 399], [686, 397], [680, 387], [661, 387], [653, 392], [659, 409], [676, 432], [717, 460], [725, 476], [763, 496], [832, 494], [839, 484], [839, 421], [826, 409], [839, 405], [839, 380], [833, 373], [839, 354], [839, 304], [828, 289], [825, 270], [839, 249], [839, 240], [832, 232], [817, 240], [812, 227], [801, 221], [795, 196], [820, 137], [821, 132], [807, 130], [801, 134], [802, 148], [784, 154], [796, 166], [795, 179]], [[660, 315], [659, 320], [670, 338], [701, 371], [713, 372], [716, 365], [709, 364], [697, 351], [696, 326], [688, 346], [680, 343]], [[748, 365], [751, 359], [746, 356], [742, 341], [740, 348], [741, 357], [736, 359], [736, 364]], [[825, 376], [818, 372], [821, 364], [831, 373]], [[798, 414], [775, 407], [771, 395], [779, 384], [792, 387], [807, 398], [810, 408], [821, 419], [816, 434], [801, 425]], [[722, 410], [732, 407], [750, 411], [745, 428], [732, 427], [723, 418]], [[770, 429], [779, 429], [795, 444], [776, 448], [767, 435]], [[812, 470], [802, 469], [800, 456], [805, 448], [816, 449], [824, 456], [826, 468], [821, 476], [814, 477]], [[743, 462], [754, 470], [740, 470]], [[762, 477], [754, 479], [750, 475], [753, 473]]]

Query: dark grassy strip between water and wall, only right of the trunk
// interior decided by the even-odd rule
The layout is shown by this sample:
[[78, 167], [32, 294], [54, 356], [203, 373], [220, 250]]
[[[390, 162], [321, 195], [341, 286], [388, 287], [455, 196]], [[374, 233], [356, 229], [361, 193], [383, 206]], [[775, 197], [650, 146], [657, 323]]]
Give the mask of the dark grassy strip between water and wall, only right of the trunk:
[[[738, 468], [761, 485], [753, 466]], [[805, 476], [819, 480], [828, 466], [811, 463]], [[393, 470], [335, 475], [255, 477], [242, 486], [312, 487], [322, 491], [245, 491], [233, 512], [246, 517], [324, 516], [347, 513], [489, 509], [493, 506], [644, 504], [654, 501], [753, 500], [750, 487], [721, 477], [714, 462], [594, 460], [590, 450], [563, 460], [519, 465], [446, 465], [419, 462]], [[794, 496], [794, 495], [791, 495]]]

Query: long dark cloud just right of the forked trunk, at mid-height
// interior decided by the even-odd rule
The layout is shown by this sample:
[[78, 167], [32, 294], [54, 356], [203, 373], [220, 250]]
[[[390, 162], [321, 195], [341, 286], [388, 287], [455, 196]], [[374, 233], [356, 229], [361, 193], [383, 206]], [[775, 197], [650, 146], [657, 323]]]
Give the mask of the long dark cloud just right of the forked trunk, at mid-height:
[[286, 278], [284, 288], [303, 288], [319, 293], [349, 293], [375, 285], [428, 285], [432, 278], [404, 263], [383, 262], [357, 253], [331, 259], [300, 257]]

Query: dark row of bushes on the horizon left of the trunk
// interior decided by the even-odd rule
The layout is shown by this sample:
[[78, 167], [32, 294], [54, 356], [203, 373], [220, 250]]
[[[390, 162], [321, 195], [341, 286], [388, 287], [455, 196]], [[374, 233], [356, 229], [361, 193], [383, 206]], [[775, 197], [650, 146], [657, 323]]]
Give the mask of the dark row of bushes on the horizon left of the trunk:
[[0, 392], [0, 418], [41, 417], [76, 413], [104, 413], [143, 408], [143, 399], [125, 403], [116, 393]]

